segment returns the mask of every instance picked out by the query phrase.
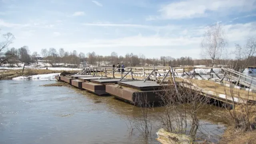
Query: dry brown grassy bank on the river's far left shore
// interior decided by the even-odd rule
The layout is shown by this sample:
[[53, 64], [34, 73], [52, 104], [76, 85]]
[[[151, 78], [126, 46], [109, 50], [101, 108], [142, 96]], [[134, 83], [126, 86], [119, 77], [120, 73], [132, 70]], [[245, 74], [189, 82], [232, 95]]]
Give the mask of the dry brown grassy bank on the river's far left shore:
[[[52, 73], [61, 73], [64, 70], [34, 70], [34, 69], [25, 69], [22, 75], [22, 70], [8, 70], [0, 72], [0, 80], [11, 80], [18, 76], [33, 76], [38, 74], [52, 74]], [[77, 73], [76, 70], [66, 71], [70, 73]]]

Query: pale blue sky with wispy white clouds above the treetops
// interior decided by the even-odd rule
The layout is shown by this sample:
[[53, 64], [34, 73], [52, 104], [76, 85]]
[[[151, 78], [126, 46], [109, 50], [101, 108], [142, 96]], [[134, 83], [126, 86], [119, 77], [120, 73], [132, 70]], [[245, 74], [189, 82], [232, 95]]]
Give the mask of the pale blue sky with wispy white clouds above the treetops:
[[[228, 50], [256, 36], [256, 0], [0, 0], [11, 47], [200, 58], [207, 26], [220, 23]], [[2, 41], [2, 37], [0, 41]]]

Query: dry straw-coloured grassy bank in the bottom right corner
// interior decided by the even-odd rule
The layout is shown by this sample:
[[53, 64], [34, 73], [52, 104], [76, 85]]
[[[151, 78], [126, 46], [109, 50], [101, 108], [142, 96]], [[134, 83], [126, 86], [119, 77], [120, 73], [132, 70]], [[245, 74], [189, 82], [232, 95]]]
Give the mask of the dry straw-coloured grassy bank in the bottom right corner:
[[[256, 106], [241, 104], [221, 112], [228, 121], [220, 144], [256, 144]], [[237, 121], [237, 124], [236, 122]]]

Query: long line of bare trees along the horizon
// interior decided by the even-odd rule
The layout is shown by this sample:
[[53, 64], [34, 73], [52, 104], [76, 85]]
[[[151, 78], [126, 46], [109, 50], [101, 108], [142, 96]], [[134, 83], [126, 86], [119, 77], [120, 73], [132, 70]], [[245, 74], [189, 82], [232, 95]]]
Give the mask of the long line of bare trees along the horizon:
[[[127, 66], [230, 66], [237, 70], [244, 70], [247, 66], [255, 66], [256, 62], [256, 40], [248, 38], [244, 46], [235, 44], [236, 49], [230, 53], [226, 52], [228, 45], [222, 26], [218, 23], [208, 26], [201, 42], [201, 58], [193, 59], [190, 56], [172, 58], [171, 56], [160, 56], [160, 58], [146, 58], [143, 54], [127, 53], [120, 56], [112, 52], [110, 56], [97, 55], [95, 52], [72, 52], [65, 51], [63, 48], [43, 48], [40, 53], [30, 54], [28, 46], [21, 48], [8, 48], [13, 43], [15, 37], [11, 33], [3, 34], [0, 39], [0, 66], [4, 63], [15, 65], [19, 62], [30, 64], [31, 62], [44, 62], [56, 66], [57, 63], [63, 64], [90, 64], [93, 66], [110, 67], [113, 64], [123, 63]], [[230, 55], [235, 57], [231, 58]]]

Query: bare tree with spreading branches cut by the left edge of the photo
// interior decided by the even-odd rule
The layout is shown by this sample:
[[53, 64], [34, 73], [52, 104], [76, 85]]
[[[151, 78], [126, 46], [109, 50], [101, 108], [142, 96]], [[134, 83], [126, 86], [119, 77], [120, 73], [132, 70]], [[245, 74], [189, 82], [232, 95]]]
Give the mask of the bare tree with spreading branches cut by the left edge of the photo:
[[0, 66], [3, 62], [8, 61], [9, 58], [14, 56], [14, 54], [4, 52], [5, 49], [13, 43], [13, 40], [15, 39], [14, 35], [8, 32], [7, 34], [3, 34], [2, 37], [4, 40], [0, 42]]

